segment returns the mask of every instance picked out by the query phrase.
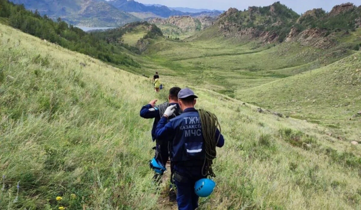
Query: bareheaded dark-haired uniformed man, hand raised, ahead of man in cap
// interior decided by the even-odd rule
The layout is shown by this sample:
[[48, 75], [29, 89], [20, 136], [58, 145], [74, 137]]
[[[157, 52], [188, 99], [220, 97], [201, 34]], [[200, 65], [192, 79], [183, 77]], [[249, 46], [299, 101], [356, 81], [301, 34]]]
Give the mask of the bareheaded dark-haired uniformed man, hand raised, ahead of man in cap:
[[[165, 171], [165, 166], [169, 158], [168, 144], [160, 144], [156, 139], [156, 128], [158, 121], [164, 114], [164, 111], [169, 106], [174, 106], [175, 111], [169, 118], [176, 117], [182, 113], [178, 105], [178, 93], [181, 88], [173, 87], [169, 90], [168, 102], [164, 102], [158, 106], [155, 106], [157, 99], [152, 100], [149, 104], [142, 107], [140, 110], [140, 116], [145, 119], [154, 119], [153, 128], [152, 128], [152, 139], [153, 142], [156, 142], [156, 146], [153, 147], [155, 149], [155, 157], [151, 160], [150, 166], [155, 170], [155, 175], [153, 177], [153, 181], [157, 184], [160, 184], [162, 181], [162, 175]], [[172, 189], [172, 186], [170, 187]], [[175, 192], [172, 189], [169, 192], [170, 201], [175, 201]]]

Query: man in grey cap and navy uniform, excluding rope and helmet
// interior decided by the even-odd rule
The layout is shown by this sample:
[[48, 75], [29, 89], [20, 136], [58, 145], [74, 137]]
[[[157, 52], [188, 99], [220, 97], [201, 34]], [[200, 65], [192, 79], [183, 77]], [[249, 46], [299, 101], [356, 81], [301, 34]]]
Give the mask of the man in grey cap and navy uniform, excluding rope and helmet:
[[[170, 106], [160, 119], [156, 129], [159, 141], [169, 142], [170, 161], [177, 186], [177, 203], [180, 210], [194, 210], [198, 207], [199, 197], [195, 194], [194, 185], [202, 175], [205, 151], [198, 111], [194, 108], [197, 96], [186, 88], [178, 93], [178, 103], [183, 110], [182, 115], [168, 121], [174, 107]], [[173, 110], [172, 110], [173, 108]], [[216, 138], [219, 130], [216, 131]], [[221, 135], [217, 147], [222, 147], [224, 138]]]

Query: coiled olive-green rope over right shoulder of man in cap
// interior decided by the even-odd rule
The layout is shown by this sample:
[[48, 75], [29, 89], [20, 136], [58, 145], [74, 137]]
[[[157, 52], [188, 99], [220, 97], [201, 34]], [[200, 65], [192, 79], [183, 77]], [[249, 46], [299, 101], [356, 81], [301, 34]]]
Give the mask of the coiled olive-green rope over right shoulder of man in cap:
[[[221, 125], [219, 125], [217, 116], [205, 110], [198, 110], [201, 120], [202, 133], [204, 138], [205, 159], [202, 167], [202, 175], [207, 177], [216, 177], [213, 173], [213, 159], [216, 158], [216, 146], [221, 137]], [[216, 139], [216, 130], [219, 128], [219, 136]]]

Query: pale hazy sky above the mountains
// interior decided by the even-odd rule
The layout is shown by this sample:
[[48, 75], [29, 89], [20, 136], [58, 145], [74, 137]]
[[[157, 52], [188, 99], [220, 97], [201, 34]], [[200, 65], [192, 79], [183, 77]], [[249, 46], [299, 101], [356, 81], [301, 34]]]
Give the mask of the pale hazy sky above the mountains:
[[[190, 7], [201, 9], [227, 10], [230, 7], [243, 10], [248, 6], [268, 6], [277, 0], [136, 0], [143, 4], [162, 4], [170, 7]], [[292, 8], [297, 13], [304, 13], [309, 9], [323, 8], [330, 11], [333, 6], [346, 2], [351, 2], [357, 6], [361, 5], [361, 0], [281, 0], [282, 4]]]

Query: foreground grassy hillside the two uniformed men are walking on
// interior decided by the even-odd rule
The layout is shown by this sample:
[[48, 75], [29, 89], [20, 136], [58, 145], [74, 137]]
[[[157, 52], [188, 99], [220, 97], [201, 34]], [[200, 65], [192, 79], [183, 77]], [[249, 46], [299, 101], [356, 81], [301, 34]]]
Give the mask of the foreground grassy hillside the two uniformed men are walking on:
[[[139, 117], [166, 92], [8, 26], [0, 32], [0, 209], [174, 207], [157, 202], [148, 168], [152, 122]], [[216, 190], [200, 209], [361, 207], [358, 146], [329, 137], [327, 127], [195, 91], [197, 107], [217, 114], [226, 139], [214, 162]]]

